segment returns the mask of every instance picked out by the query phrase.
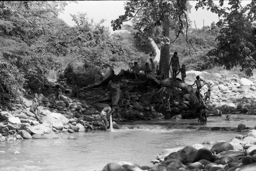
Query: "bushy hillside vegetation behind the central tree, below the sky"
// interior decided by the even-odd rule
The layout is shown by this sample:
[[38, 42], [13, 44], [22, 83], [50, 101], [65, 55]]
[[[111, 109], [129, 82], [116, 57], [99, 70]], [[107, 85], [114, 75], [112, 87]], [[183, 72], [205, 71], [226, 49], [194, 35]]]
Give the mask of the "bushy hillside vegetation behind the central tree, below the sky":
[[[15, 100], [23, 93], [43, 93], [45, 84], [86, 87], [100, 80], [110, 65], [117, 74], [141, 66], [154, 58], [152, 47], [142, 41], [134, 26], [110, 34], [102, 23], [85, 13], [72, 15], [76, 25], [68, 26], [58, 14], [71, 1], [3, 1], [0, 4], [0, 92], [1, 99]], [[206, 55], [218, 45], [220, 27], [212, 23], [202, 29], [188, 28], [170, 44], [170, 55], [178, 52], [187, 70], [209, 70], [217, 63]], [[170, 28], [170, 39], [175, 39]], [[155, 42], [161, 48], [161, 36]], [[188, 44], [189, 42], [189, 44]], [[169, 62], [169, 61], [166, 61]], [[4, 102], [3, 100], [1, 101]]]

